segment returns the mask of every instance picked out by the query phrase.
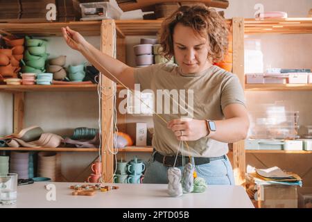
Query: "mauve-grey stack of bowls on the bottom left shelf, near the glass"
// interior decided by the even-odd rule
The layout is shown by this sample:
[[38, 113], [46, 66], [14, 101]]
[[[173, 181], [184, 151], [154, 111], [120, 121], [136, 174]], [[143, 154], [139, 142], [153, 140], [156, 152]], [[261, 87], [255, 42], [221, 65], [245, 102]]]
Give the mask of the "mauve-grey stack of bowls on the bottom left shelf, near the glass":
[[29, 153], [12, 151], [10, 155], [10, 173], [17, 173], [19, 179], [28, 179]]

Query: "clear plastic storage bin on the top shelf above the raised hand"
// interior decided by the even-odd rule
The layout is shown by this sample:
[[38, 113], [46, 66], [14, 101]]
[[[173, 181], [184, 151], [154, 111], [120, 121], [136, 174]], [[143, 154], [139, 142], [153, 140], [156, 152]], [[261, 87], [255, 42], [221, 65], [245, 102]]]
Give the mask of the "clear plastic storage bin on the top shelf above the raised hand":
[[114, 8], [108, 2], [90, 2], [80, 3], [81, 15], [80, 20], [101, 20], [101, 19], [120, 19], [121, 12]]

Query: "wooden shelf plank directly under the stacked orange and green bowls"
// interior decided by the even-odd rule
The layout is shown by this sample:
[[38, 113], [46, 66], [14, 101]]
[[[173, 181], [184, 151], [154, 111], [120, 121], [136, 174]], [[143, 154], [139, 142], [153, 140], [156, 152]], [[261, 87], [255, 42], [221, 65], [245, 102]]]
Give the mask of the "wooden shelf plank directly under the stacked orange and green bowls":
[[86, 85], [0, 85], [0, 92], [96, 91], [97, 84]]

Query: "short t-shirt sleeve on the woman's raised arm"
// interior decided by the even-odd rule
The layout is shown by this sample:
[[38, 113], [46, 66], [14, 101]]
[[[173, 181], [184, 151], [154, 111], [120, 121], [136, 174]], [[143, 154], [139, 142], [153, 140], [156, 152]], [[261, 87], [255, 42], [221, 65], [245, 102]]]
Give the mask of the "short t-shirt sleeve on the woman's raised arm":
[[140, 90], [150, 89], [155, 73], [155, 65], [135, 68], [135, 84], [140, 84]]

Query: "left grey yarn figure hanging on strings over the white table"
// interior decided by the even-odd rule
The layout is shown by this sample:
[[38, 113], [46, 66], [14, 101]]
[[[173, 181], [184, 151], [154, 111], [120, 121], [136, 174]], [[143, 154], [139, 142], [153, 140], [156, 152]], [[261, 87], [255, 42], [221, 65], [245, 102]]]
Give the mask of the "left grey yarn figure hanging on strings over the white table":
[[168, 169], [168, 194], [178, 197], [183, 194], [181, 185], [181, 171], [177, 167]]

